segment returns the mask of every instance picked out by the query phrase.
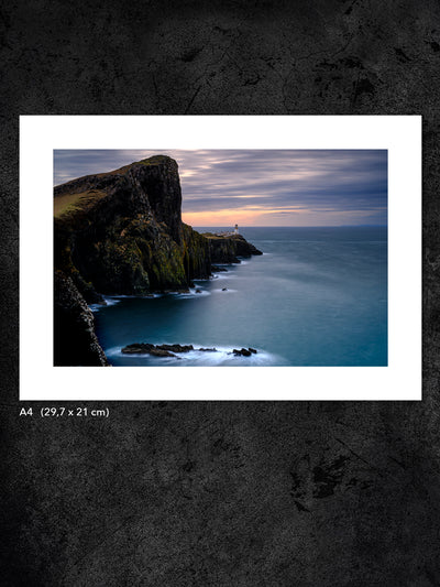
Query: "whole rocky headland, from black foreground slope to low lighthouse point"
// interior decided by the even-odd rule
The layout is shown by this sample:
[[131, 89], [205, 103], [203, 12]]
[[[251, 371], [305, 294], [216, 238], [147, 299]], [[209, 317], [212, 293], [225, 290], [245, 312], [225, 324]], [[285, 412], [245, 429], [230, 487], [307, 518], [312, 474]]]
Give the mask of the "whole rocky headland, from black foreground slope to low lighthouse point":
[[[262, 254], [182, 221], [177, 163], [153, 156], [54, 188], [54, 363], [107, 366], [88, 307], [102, 295], [188, 291], [212, 263]], [[158, 349], [161, 350], [161, 349]]]

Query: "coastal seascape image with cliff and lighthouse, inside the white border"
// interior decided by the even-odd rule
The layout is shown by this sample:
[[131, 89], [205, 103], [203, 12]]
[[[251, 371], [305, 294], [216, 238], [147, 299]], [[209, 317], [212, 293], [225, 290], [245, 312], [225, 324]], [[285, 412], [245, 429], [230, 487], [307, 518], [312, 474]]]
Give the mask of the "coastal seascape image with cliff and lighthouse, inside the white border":
[[385, 367], [386, 150], [55, 150], [54, 366]]

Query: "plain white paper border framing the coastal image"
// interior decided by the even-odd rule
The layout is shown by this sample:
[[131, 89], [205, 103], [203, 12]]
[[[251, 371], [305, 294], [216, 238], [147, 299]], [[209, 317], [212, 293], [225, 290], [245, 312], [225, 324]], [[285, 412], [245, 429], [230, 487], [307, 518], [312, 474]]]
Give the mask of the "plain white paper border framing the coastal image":
[[[388, 367], [53, 367], [55, 149], [388, 150]], [[421, 400], [421, 117], [20, 117], [20, 400]]]

